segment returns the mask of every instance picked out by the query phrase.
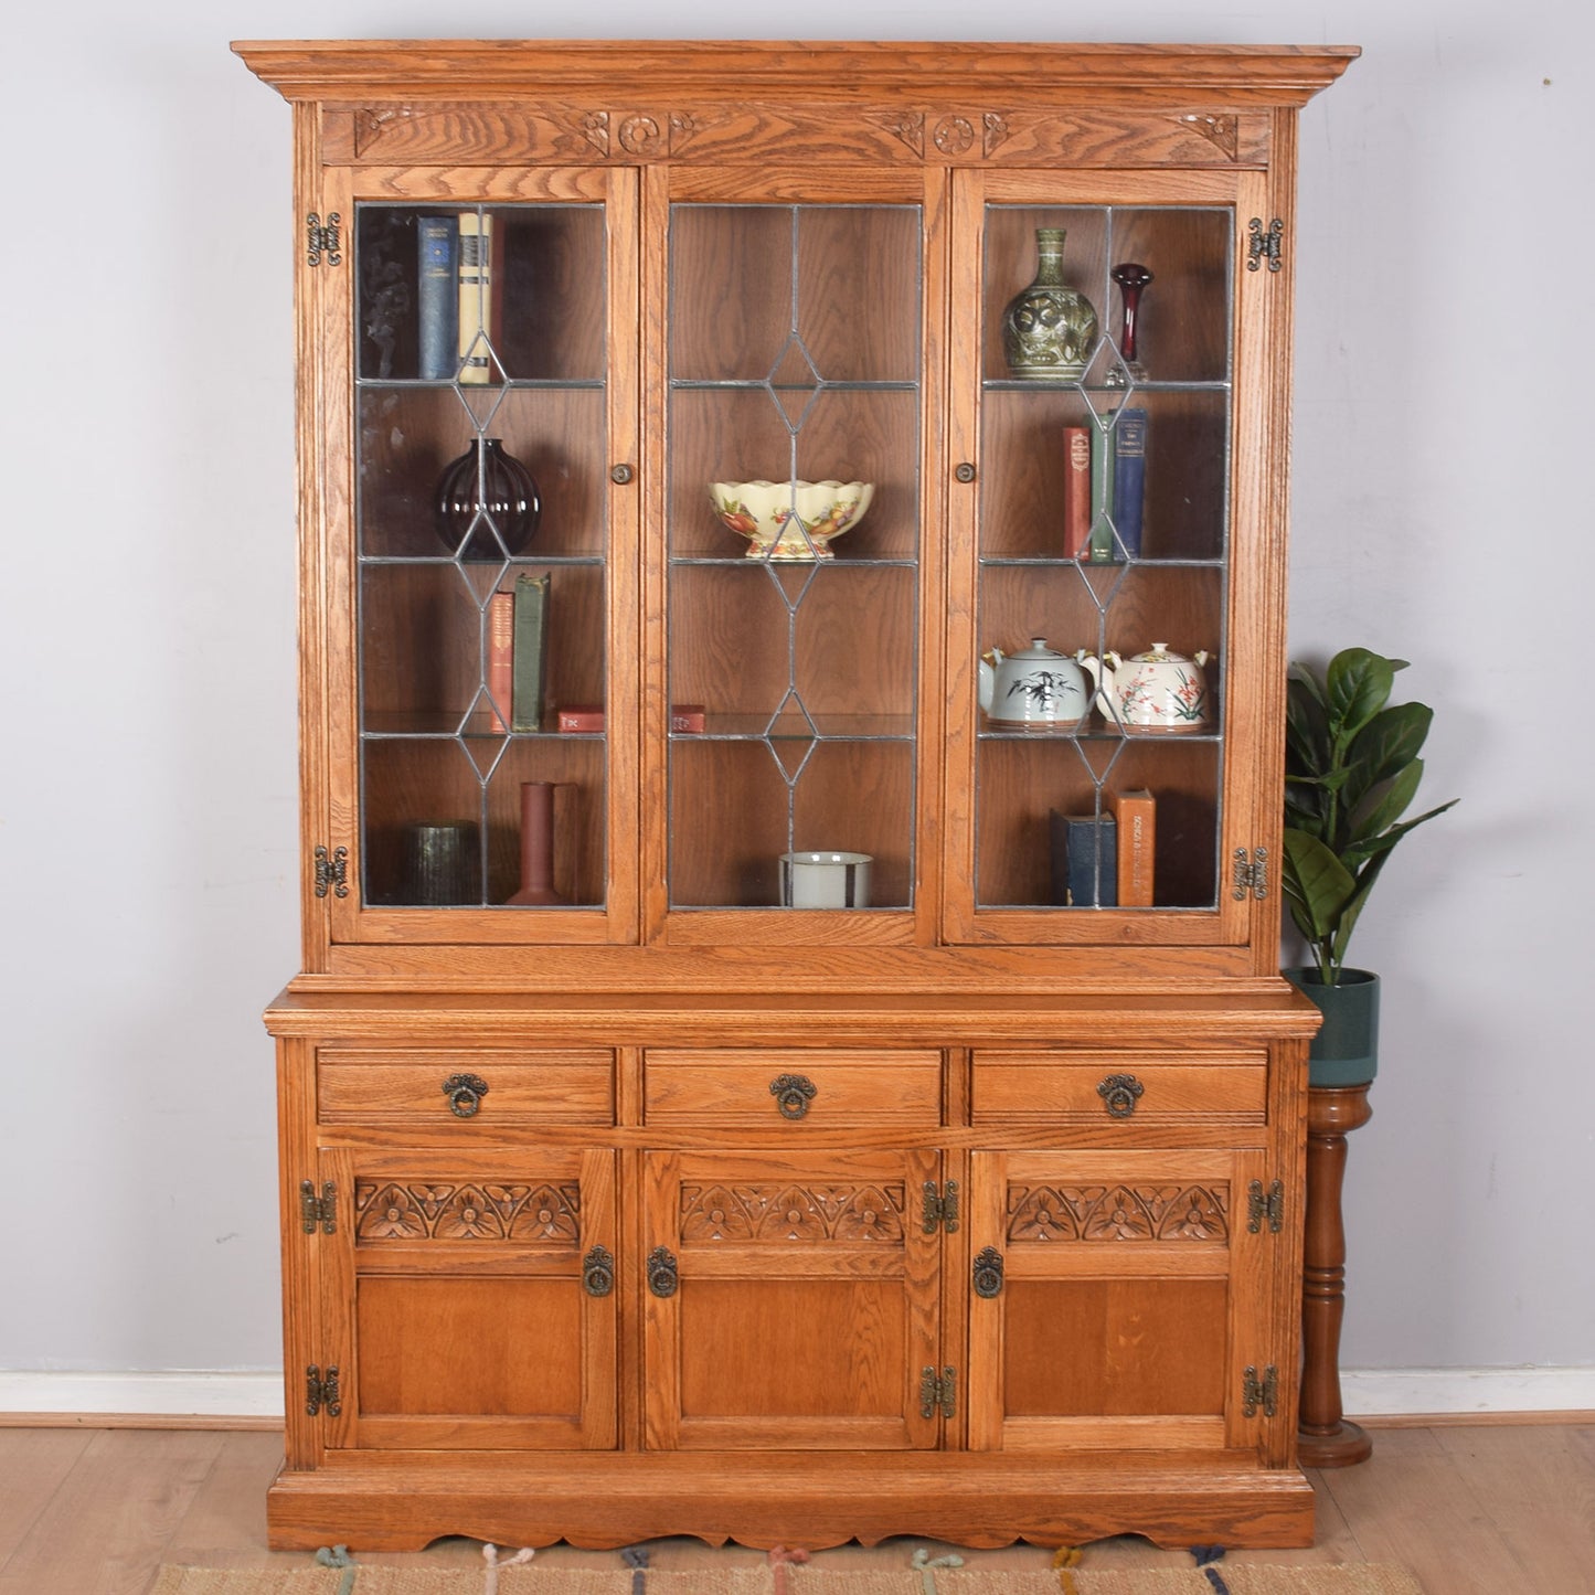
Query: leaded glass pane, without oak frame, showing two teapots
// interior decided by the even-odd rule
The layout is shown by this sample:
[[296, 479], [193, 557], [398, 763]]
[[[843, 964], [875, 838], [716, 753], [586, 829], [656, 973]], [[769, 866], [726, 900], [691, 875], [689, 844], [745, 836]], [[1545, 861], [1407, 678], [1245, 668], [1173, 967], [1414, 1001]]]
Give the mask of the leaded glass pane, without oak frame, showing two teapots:
[[975, 906], [1057, 911], [1062, 938], [1081, 911], [1214, 912], [1233, 212], [986, 204], [981, 228]]

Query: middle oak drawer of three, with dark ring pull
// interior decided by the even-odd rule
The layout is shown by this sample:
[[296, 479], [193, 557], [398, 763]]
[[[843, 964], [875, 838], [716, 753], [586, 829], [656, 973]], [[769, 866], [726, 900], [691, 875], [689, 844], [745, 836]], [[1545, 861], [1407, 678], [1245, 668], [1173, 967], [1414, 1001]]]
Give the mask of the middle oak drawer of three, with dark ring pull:
[[939, 1124], [936, 1051], [652, 1051], [649, 1124]]

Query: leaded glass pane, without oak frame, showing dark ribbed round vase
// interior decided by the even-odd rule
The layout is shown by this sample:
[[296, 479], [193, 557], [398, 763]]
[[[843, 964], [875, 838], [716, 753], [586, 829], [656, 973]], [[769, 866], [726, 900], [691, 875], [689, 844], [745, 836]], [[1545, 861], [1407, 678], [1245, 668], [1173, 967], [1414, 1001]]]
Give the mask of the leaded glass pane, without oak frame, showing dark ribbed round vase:
[[357, 207], [367, 908], [605, 906], [606, 249], [598, 204]]

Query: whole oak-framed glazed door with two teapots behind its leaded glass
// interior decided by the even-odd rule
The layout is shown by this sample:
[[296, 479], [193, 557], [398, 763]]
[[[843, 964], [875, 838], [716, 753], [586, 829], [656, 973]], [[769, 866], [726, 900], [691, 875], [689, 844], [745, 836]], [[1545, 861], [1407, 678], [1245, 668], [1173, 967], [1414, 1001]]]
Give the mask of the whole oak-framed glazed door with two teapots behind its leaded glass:
[[[1235, 849], [1276, 828], [1250, 796], [1282, 469], [1238, 258], [1257, 196], [1123, 172], [970, 172], [955, 196], [949, 931], [1241, 943]], [[1075, 298], [1043, 314], [1048, 263]], [[1037, 332], [1059, 317], [1075, 343]]]

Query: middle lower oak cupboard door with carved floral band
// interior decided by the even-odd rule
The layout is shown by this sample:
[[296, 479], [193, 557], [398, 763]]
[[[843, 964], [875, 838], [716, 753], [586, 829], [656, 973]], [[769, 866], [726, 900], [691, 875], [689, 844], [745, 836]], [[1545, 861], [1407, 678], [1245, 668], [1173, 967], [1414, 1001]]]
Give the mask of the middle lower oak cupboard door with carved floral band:
[[933, 1447], [941, 1432], [931, 1152], [646, 1158], [654, 1448]]

